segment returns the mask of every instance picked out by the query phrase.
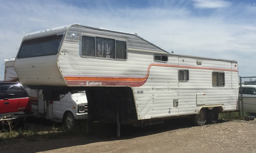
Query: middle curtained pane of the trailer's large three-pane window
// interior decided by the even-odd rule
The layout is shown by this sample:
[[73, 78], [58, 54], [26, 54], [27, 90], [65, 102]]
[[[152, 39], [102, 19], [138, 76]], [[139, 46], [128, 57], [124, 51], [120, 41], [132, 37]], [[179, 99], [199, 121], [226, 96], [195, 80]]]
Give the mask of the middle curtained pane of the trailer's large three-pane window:
[[115, 40], [96, 37], [96, 57], [115, 58]]

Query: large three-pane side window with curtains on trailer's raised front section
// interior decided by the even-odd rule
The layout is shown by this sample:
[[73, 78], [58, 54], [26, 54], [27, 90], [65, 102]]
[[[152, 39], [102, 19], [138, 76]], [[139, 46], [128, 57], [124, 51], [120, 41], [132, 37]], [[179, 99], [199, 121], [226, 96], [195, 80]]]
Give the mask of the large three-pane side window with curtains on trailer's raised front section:
[[126, 41], [111, 38], [82, 36], [81, 55], [110, 59], [127, 59]]

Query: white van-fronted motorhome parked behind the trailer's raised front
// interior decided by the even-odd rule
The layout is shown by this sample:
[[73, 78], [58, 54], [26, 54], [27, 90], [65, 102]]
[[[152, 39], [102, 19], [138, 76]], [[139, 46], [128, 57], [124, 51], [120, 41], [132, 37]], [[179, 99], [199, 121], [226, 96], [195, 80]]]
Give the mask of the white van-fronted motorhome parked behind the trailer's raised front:
[[[12, 61], [5, 62], [4, 81], [19, 82], [13, 64], [14, 58]], [[26, 85], [24, 87], [30, 97], [33, 117], [63, 122], [69, 129], [74, 127], [76, 120], [87, 119], [87, 98], [85, 91], [68, 92], [66, 95], [60, 95], [62, 98], [59, 101], [46, 101], [43, 100], [41, 90], [30, 89]]]

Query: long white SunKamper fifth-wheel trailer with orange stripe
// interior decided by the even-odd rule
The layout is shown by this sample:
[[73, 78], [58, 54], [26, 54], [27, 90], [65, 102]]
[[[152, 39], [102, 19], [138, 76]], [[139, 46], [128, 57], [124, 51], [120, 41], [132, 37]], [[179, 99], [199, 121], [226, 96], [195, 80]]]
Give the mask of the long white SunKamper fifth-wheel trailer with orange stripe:
[[204, 125], [237, 110], [236, 61], [171, 54], [136, 33], [80, 24], [29, 33], [14, 68], [46, 100], [85, 89], [94, 121], [144, 125], [191, 115]]

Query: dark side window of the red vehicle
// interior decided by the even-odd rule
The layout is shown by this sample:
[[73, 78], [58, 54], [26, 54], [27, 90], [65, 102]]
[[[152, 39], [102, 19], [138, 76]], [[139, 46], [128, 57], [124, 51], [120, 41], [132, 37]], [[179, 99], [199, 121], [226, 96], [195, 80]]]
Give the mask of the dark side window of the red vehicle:
[[25, 98], [27, 97], [23, 87], [17, 83], [1, 83], [0, 84], [0, 99], [4, 98]]

